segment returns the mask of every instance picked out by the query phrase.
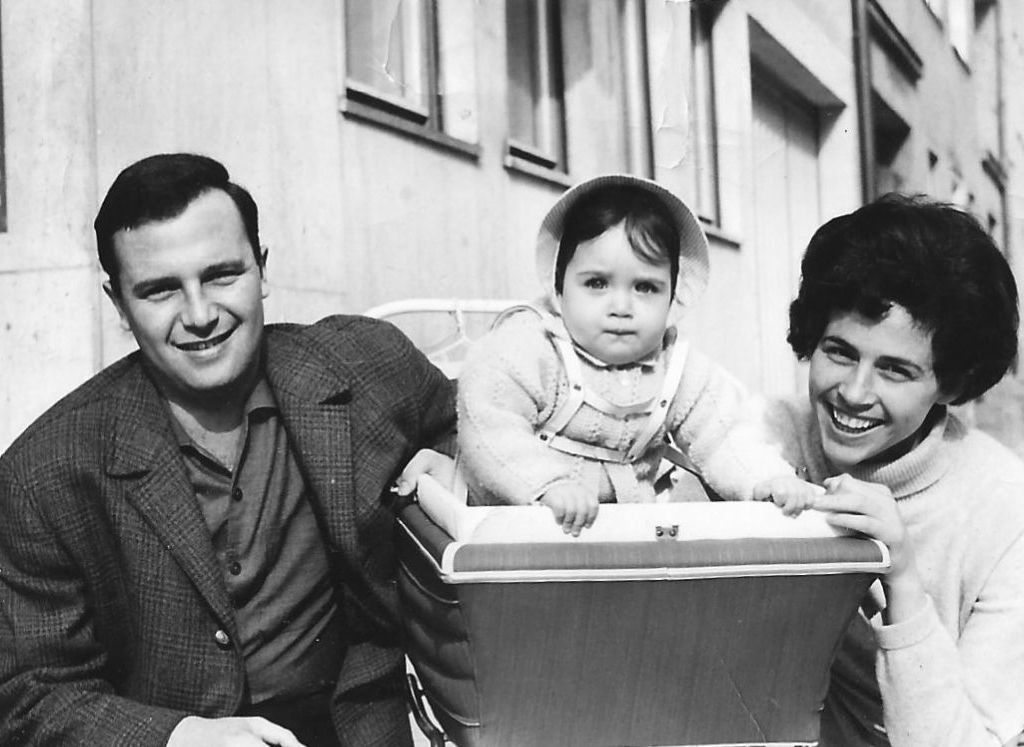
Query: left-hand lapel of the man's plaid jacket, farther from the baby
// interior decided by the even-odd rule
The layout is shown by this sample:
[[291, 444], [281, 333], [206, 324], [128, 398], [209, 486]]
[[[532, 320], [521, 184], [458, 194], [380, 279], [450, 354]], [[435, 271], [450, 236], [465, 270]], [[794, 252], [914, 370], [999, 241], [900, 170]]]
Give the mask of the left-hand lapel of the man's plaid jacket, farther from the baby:
[[103, 432], [112, 433], [106, 473], [127, 483], [125, 495], [174, 555], [220, 621], [234, 616], [209, 530], [157, 388], [137, 366], [122, 381]]

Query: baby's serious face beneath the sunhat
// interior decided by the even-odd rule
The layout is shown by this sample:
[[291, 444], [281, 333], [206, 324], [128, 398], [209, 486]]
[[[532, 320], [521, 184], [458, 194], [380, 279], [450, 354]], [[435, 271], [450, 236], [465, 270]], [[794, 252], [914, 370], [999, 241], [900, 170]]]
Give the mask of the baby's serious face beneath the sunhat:
[[560, 298], [577, 344], [608, 364], [634, 363], [662, 345], [672, 269], [638, 257], [620, 223], [577, 247]]

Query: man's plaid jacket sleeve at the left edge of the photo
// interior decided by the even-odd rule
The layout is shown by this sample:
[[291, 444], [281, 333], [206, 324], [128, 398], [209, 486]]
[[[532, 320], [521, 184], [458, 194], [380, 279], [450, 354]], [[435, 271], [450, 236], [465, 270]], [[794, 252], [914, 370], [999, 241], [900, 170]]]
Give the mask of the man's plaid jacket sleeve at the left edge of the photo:
[[165, 744], [186, 714], [115, 695], [85, 580], [13, 472], [0, 466], [0, 744]]

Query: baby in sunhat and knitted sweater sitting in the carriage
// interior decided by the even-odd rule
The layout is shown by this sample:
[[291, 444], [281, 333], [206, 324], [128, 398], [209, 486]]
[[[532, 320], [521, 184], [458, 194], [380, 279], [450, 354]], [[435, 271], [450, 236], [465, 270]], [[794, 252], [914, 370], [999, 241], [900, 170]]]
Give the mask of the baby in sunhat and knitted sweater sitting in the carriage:
[[545, 217], [537, 262], [547, 295], [505, 313], [459, 377], [473, 500], [540, 501], [579, 535], [599, 502], [658, 499], [670, 434], [724, 498], [812, 503], [814, 487], [735, 424], [739, 383], [674, 324], [708, 279], [708, 241], [678, 198], [629, 175], [578, 184]]

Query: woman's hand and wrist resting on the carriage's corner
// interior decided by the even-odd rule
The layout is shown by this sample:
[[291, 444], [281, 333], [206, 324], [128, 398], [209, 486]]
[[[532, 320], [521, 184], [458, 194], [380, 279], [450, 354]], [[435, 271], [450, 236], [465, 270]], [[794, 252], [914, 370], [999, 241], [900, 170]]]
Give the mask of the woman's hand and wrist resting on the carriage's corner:
[[892, 491], [878, 483], [865, 483], [849, 474], [824, 481], [825, 492], [814, 500], [814, 508], [825, 512], [836, 527], [851, 529], [877, 539], [889, 548], [892, 563], [882, 578], [886, 591], [886, 624], [905, 620], [925, 604], [925, 587], [913, 559], [913, 546], [896, 507]]

